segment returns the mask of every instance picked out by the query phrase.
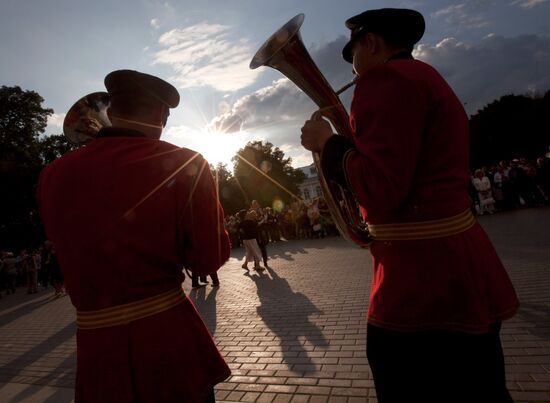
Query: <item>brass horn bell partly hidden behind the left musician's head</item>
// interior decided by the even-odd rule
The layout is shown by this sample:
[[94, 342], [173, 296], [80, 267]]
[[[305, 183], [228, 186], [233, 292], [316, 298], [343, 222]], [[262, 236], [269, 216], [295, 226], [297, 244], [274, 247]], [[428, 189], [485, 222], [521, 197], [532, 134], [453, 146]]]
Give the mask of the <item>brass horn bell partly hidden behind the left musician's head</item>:
[[101, 128], [111, 126], [107, 117], [109, 105], [110, 98], [106, 92], [93, 92], [80, 98], [65, 115], [65, 137], [75, 146], [93, 140]]

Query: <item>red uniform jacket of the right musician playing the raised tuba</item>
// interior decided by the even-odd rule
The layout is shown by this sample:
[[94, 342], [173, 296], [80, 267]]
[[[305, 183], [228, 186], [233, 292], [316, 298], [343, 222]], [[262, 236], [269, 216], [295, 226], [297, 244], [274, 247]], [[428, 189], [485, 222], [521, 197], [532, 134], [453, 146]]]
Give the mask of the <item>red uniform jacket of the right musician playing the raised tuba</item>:
[[[429, 65], [401, 57], [360, 77], [353, 141], [322, 152], [329, 179], [350, 187], [370, 224], [455, 216], [470, 208], [464, 109]], [[375, 241], [369, 323], [393, 330], [484, 333], [518, 307], [513, 286], [478, 223], [446, 237]]]

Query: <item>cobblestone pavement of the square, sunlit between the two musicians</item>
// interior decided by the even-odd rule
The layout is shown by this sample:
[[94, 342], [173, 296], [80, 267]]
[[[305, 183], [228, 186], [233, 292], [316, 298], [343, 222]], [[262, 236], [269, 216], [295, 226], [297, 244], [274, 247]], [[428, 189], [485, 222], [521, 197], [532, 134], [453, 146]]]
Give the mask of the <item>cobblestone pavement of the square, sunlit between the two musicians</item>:
[[[503, 325], [516, 402], [550, 402], [550, 208], [480, 217], [521, 300]], [[220, 270], [221, 287], [184, 288], [232, 368], [221, 402], [376, 402], [365, 356], [368, 251], [340, 238], [268, 245], [271, 268]], [[74, 310], [53, 291], [0, 300], [0, 402], [70, 402]], [[421, 397], [419, 397], [421, 399]], [[418, 400], [418, 399], [414, 399]]]

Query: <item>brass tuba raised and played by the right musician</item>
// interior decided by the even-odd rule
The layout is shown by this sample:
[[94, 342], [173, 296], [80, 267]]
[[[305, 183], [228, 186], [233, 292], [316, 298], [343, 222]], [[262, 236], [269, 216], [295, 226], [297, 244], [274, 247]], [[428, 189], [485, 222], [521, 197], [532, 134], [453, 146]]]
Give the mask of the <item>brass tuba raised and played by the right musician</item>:
[[[303, 22], [304, 14], [298, 14], [283, 25], [256, 52], [250, 68], [269, 66], [279, 70], [319, 106], [323, 116], [332, 123], [339, 135], [351, 139], [349, 116], [338, 94], [353, 85], [353, 82], [338, 92], [332, 89], [302, 42], [300, 26]], [[368, 247], [372, 239], [352, 191], [325, 179], [318, 153], [313, 153], [313, 161], [338, 230], [346, 240], [363, 248]]]

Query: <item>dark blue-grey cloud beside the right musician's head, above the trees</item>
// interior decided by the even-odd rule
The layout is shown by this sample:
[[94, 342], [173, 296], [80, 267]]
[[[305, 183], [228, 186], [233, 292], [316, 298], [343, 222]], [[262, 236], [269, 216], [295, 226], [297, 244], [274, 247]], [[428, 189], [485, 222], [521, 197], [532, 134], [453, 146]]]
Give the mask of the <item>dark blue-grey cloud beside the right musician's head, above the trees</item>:
[[488, 35], [478, 44], [445, 38], [420, 45], [417, 58], [438, 69], [473, 114], [506, 94], [550, 89], [550, 38]]

